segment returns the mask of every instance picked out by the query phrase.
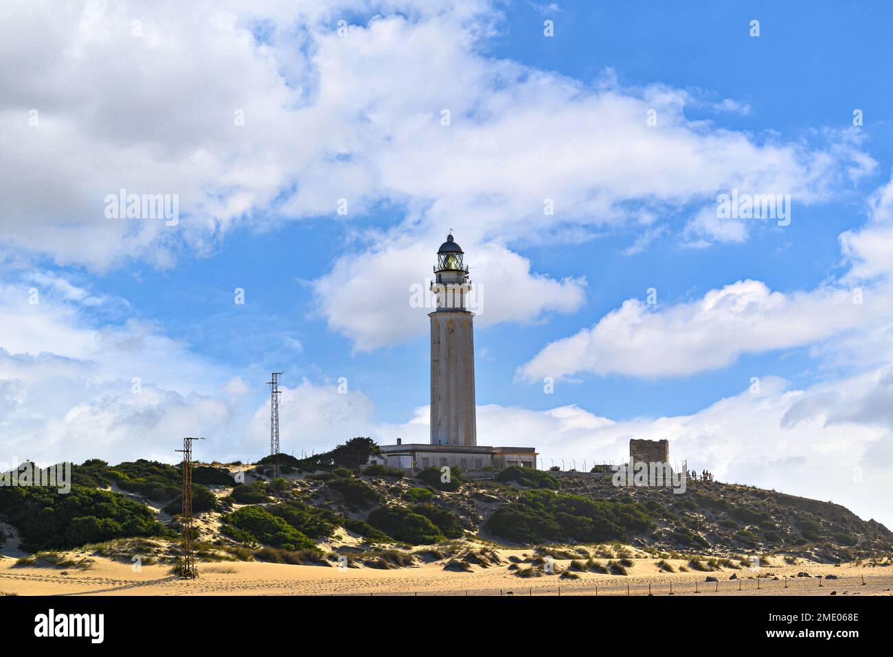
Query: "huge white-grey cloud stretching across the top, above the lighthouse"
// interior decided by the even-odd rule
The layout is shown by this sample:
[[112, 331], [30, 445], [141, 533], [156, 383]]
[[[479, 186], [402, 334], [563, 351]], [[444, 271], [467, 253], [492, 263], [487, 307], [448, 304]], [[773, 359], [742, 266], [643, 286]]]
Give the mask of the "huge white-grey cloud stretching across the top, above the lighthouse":
[[[610, 74], [586, 86], [479, 54], [499, 20], [483, 2], [6, 12], [4, 242], [59, 262], [169, 266], [184, 248], [213, 249], [236, 222], [329, 215], [339, 198], [351, 216], [385, 200], [422, 233], [453, 225], [473, 232], [466, 241], [505, 244], [622, 221], [630, 200], [699, 204], [739, 187], [818, 201], [872, 166], [845, 134], [757, 143], [688, 121], [695, 101], [680, 90], [622, 88]], [[380, 15], [338, 36], [340, 14]], [[106, 220], [104, 196], [121, 187], [179, 194], [179, 225]]]

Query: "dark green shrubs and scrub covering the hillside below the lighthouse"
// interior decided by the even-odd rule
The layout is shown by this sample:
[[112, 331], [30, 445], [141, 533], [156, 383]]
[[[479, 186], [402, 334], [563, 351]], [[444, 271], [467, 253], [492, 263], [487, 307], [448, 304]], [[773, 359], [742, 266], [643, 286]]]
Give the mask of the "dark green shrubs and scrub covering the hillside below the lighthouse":
[[[388, 544], [432, 545], [425, 550], [437, 553], [442, 546], [433, 544], [463, 545], [460, 539], [474, 535], [528, 546], [622, 541], [655, 553], [697, 551], [720, 559], [776, 553], [839, 562], [893, 550], [893, 534], [879, 523], [838, 504], [775, 491], [689, 481], [677, 495], [665, 487], [613, 487], [610, 477], [559, 479], [521, 468], [491, 480], [451, 470], [448, 482], [439, 468], [413, 476], [386, 466], [358, 473], [357, 460], [377, 449], [368, 438], [354, 438], [310, 460], [281, 455], [280, 465], [302, 470], [299, 476], [250, 481], [269, 476], [262, 465], [238, 485], [225, 468], [197, 465], [193, 511], [205, 520], [196, 524], [200, 540], [238, 558], [303, 563], [320, 559], [315, 545], [345, 537], [343, 528], [360, 538], [358, 549], [366, 554], [360, 561], [382, 568], [400, 562], [386, 556], [394, 547]], [[156, 517], [146, 502], [166, 504], [164, 511], [178, 515], [181, 477], [179, 466], [146, 460], [110, 466], [92, 459], [72, 467], [69, 495], [0, 488], [0, 516], [18, 529], [21, 548], [29, 551], [175, 538], [179, 521]], [[232, 490], [218, 500], [208, 488], [214, 486]], [[104, 490], [110, 487], [122, 492]]]

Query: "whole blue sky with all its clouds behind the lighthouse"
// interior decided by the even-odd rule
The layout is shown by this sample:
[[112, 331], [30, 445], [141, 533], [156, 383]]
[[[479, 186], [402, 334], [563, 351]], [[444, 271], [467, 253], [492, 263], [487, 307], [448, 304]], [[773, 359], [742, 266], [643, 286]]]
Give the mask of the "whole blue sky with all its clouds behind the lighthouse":
[[[548, 464], [669, 437], [893, 520], [888, 4], [47, 7], [0, 46], [10, 458], [172, 460], [199, 433], [247, 460], [272, 370], [286, 451], [422, 439], [408, 286], [453, 228], [481, 443]], [[105, 219], [121, 187], [179, 195], [179, 224]], [[719, 220], [732, 188], [791, 195], [790, 225]]]

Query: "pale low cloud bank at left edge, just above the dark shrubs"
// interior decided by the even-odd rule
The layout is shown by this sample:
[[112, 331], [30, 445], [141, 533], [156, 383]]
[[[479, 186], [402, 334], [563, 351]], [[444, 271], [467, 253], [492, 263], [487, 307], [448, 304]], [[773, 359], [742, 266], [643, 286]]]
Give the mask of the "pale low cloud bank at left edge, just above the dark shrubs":
[[182, 436], [229, 430], [244, 382], [231, 379], [220, 395], [225, 370], [153, 323], [94, 316], [120, 307], [58, 275], [0, 286], [5, 461], [172, 461]]

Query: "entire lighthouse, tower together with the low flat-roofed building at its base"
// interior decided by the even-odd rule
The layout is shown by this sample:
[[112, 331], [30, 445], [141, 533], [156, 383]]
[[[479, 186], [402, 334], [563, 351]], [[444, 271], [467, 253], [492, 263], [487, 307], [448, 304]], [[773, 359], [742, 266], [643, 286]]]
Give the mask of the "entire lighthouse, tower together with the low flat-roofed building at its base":
[[463, 250], [452, 235], [438, 249], [431, 291], [437, 310], [431, 322], [430, 445], [383, 445], [388, 464], [401, 468], [447, 465], [461, 470], [512, 465], [536, 468], [534, 447], [478, 446], [474, 398], [474, 313], [468, 310], [472, 282]]

